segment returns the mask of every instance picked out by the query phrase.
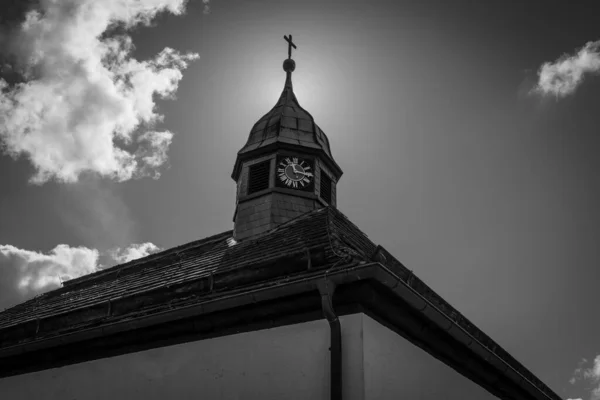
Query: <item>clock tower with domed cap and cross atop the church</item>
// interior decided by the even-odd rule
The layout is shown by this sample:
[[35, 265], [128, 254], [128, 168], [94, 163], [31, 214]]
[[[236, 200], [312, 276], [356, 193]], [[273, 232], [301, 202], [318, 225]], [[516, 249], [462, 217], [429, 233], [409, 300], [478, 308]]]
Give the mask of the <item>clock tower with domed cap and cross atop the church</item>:
[[329, 139], [298, 103], [292, 87], [292, 35], [283, 62], [285, 85], [275, 107], [250, 131], [231, 177], [237, 183], [233, 216], [235, 240], [243, 240], [308, 211], [336, 206], [342, 176]]

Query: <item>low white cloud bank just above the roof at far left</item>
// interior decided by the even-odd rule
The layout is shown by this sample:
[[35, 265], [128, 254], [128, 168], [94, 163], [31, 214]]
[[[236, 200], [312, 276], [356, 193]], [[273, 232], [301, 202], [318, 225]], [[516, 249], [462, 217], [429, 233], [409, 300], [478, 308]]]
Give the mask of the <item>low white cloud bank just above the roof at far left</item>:
[[[159, 250], [152, 243], [142, 243], [107, 253], [117, 263], [124, 263]], [[59, 244], [47, 254], [0, 245], [0, 311], [59, 288], [62, 281], [104, 268], [98, 262], [100, 256], [96, 249], [66, 244]]]

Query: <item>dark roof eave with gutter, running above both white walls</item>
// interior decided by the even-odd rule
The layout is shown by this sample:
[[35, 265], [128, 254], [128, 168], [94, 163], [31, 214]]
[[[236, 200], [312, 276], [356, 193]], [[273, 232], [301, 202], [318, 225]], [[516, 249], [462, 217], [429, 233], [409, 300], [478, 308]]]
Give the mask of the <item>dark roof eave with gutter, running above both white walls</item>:
[[[67, 335], [15, 345], [0, 349], [0, 360], [18, 359], [27, 354], [37, 353], [57, 346], [75, 345], [78, 342], [85, 342], [140, 329], [143, 330], [153, 326], [162, 326], [165, 323], [173, 323], [178, 320], [185, 320], [201, 315], [204, 320], [206, 316], [214, 315], [215, 313], [222, 313], [227, 310], [238, 309], [239, 307], [253, 306], [268, 301], [289, 298], [302, 293], [314, 292], [317, 283], [323, 279], [333, 281], [338, 287], [359, 281], [378, 282], [384, 287], [387, 287], [396, 298], [410, 305], [412, 309], [417, 310], [419, 315], [423, 318], [423, 321], [429, 321], [427, 322], [428, 324], [435, 324], [440, 329], [445, 330], [449, 334], [449, 337], [456, 341], [456, 346], [452, 346], [455, 351], [460, 352], [460, 349], [464, 347], [469, 349], [470, 353], [475, 354], [481, 365], [485, 366], [489, 371], [495, 372], [496, 375], [494, 376], [496, 376], [498, 381], [504, 382], [502, 387], [506, 387], [506, 384], [511, 383], [509, 386], [518, 388], [518, 390], [515, 390], [517, 390], [520, 395], [517, 396], [512, 393], [516, 396], [514, 398], [523, 400], [558, 400], [560, 398], [547, 388], [545, 390], [540, 389], [540, 387], [531, 382], [531, 377], [529, 377], [529, 379], [526, 378], [523, 373], [516, 371], [513, 367], [508, 365], [506, 360], [503, 360], [498, 354], [482, 345], [472, 334], [459, 326], [455, 321], [448, 318], [444, 312], [423, 297], [423, 295], [417, 293], [404, 282], [400, 276], [380, 262], [364, 263], [350, 268], [341, 267], [339, 269], [336, 268], [333, 271], [320, 270], [308, 272], [302, 274], [302, 276], [290, 278], [285, 282], [271, 282], [269, 284], [257, 285], [253, 289], [247, 288], [224, 293], [219, 298], [210, 299], [200, 304], [182, 307], [177, 310], [159, 312], [153, 315], [139, 317], [134, 320], [119, 321]], [[353, 292], [352, 296], [357, 296], [355, 300], [361, 304], [368, 303], [369, 308], [375, 308], [374, 311], [379, 313], [379, 315], [389, 314], [390, 307], [392, 310], [398, 311], [397, 305], [390, 305], [383, 301], [369, 302], [368, 299], [365, 299], [364, 297], [361, 298], [359, 292]], [[397, 320], [390, 320], [388, 322], [395, 325], [406, 323]], [[214, 322], [211, 322], [211, 325], [214, 325]], [[421, 330], [423, 330], [423, 327], [425, 327], [425, 325], [421, 327]], [[214, 329], [215, 326], [211, 326], [211, 328]], [[398, 326], [398, 328], [400, 330], [405, 329], [403, 326]], [[429, 340], [427, 337], [427, 329], [425, 329], [424, 332], [421, 332], [421, 334], [425, 337], [425, 341]], [[433, 346], [435, 343], [428, 344]], [[439, 343], [436, 345], [439, 345]], [[0, 362], [0, 365], [2, 364], [11, 365], [11, 363]], [[7, 371], [0, 367], [0, 376], [6, 375]], [[494, 393], [494, 390], [500, 390], [496, 389], [496, 385], [490, 386], [489, 383], [482, 384], [482, 386], [486, 387], [492, 393]], [[498, 387], [500, 387], [500, 385], [498, 385]], [[505, 392], [498, 392], [495, 394], [500, 398], [503, 398], [506, 395]]]

